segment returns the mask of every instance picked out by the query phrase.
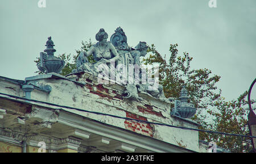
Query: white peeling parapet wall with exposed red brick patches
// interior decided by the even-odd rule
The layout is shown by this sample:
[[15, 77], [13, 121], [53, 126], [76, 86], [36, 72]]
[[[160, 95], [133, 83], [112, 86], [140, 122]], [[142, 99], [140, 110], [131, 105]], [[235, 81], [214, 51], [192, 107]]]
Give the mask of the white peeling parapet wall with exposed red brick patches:
[[[55, 103], [62, 106], [80, 108], [87, 111], [108, 113], [110, 115], [117, 115], [120, 117], [130, 117], [138, 120], [197, 128], [196, 124], [190, 123], [189, 121], [171, 117], [170, 103], [155, 99], [146, 93], [139, 94], [139, 96], [143, 98], [142, 102], [127, 100], [122, 96], [125, 87], [117, 84], [101, 85], [97, 82], [97, 78], [88, 73], [71, 75], [69, 79], [77, 82], [84, 82], [85, 85], [81, 86], [76, 82], [61, 78], [39, 78], [34, 81], [44, 85], [49, 85], [52, 87], [52, 90], [49, 93], [33, 90], [31, 92], [31, 99]], [[6, 86], [6, 83], [4, 85], [0, 85], [1, 92], [11, 95], [20, 95], [21, 89], [9, 91], [3, 86]], [[12, 84], [10, 84], [10, 86], [12, 86]], [[15, 87], [15, 85], [12, 87]], [[183, 148], [195, 150], [196, 152], [199, 151], [199, 134], [197, 131], [187, 131], [184, 129], [154, 124], [137, 124], [125, 119], [69, 110], [66, 108], [63, 108], [63, 110], [89, 117], [90, 119], [101, 121], [102, 123], [127, 129], [135, 133], [153, 137]]]

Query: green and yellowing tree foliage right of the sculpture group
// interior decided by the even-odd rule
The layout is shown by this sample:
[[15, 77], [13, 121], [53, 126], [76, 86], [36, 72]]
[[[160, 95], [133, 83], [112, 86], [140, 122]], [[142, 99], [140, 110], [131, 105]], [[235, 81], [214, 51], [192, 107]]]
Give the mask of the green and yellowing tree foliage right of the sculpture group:
[[[143, 60], [144, 64], [159, 64], [159, 83], [163, 85], [166, 97], [179, 98], [181, 88], [185, 85], [189, 92], [189, 100], [197, 108], [197, 113], [192, 119], [202, 125], [200, 129], [247, 134], [247, 92], [237, 100], [226, 102], [221, 97], [221, 90], [216, 87], [220, 76], [212, 75], [206, 68], [191, 69], [193, 58], [187, 52], [184, 52], [183, 56], [178, 56], [177, 44], [171, 44], [169, 51], [170, 58], [167, 61], [166, 55], [162, 57], [152, 44], [148, 48], [150, 56]], [[242, 141], [246, 138], [205, 132], [199, 132], [199, 138], [207, 142], [214, 141], [230, 152], [242, 152], [245, 149], [249, 152], [251, 149], [250, 146], [242, 146]]]

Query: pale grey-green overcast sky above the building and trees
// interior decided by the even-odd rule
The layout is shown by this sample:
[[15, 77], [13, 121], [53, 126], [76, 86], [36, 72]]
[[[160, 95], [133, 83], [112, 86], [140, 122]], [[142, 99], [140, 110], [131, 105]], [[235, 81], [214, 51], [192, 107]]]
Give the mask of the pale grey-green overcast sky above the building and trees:
[[[193, 57], [192, 68], [221, 76], [223, 96], [236, 99], [256, 77], [256, 1], [216, 0], [0, 0], [0, 76], [24, 79], [36, 75], [34, 60], [52, 36], [57, 52], [75, 54], [81, 41], [104, 28], [110, 36], [122, 27], [127, 43], [155, 44], [168, 54], [179, 44]], [[108, 40], [109, 40], [108, 39]], [[256, 98], [256, 85], [251, 98]]]

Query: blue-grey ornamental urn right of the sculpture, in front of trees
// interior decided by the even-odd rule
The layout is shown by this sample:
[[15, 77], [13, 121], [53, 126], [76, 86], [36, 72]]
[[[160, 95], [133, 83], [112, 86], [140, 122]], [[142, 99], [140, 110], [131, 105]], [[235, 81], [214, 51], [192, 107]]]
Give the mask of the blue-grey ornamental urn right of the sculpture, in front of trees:
[[191, 118], [196, 113], [196, 108], [193, 104], [188, 103], [188, 91], [183, 86], [180, 92], [180, 100], [175, 100], [174, 108], [171, 115], [179, 116], [182, 118]]

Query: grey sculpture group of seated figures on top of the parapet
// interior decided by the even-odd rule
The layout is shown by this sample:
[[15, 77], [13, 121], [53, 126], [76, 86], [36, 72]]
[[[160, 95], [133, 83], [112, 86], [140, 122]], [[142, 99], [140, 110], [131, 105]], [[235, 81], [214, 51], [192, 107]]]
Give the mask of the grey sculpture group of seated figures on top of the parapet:
[[[169, 101], [163, 93], [163, 86], [159, 85], [153, 79], [148, 79], [145, 70], [141, 68], [139, 58], [147, 53], [147, 44], [140, 41], [135, 48], [127, 44], [127, 37], [121, 27], [115, 30], [115, 33], [107, 41], [108, 33], [103, 28], [96, 34], [96, 44], [92, 45], [88, 51], [82, 51], [77, 58], [77, 69], [73, 73], [85, 71], [93, 75], [104, 74], [109, 79], [115, 79], [115, 82], [126, 86], [125, 98], [142, 100], [139, 98], [139, 92], [145, 92], [155, 98]], [[88, 56], [93, 55], [96, 62], [90, 63]], [[113, 64], [114, 67], [111, 65]], [[138, 68], [138, 69], [136, 69]], [[104, 72], [108, 69], [107, 72]]]

